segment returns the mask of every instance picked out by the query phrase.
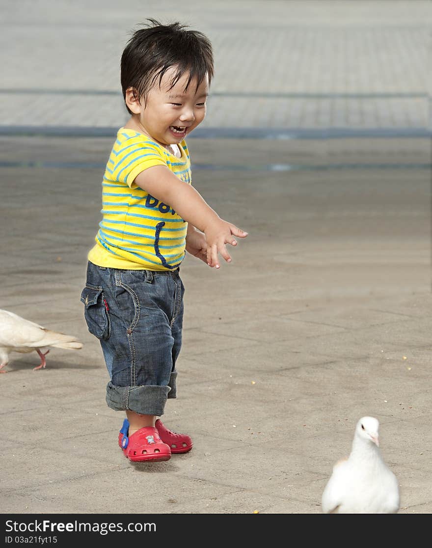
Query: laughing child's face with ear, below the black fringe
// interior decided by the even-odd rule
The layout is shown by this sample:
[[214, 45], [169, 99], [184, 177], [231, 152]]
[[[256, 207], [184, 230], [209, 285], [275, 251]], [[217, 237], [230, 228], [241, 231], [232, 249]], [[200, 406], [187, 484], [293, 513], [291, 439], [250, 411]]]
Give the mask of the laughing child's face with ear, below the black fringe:
[[148, 92], [147, 101], [141, 99], [140, 104], [136, 104], [137, 112], [133, 110], [143, 133], [162, 145], [180, 143], [205, 117], [208, 77], [203, 79], [198, 89], [197, 80], [193, 79], [185, 92], [188, 73], [169, 89], [175, 72], [176, 67], [166, 71], [160, 87], [157, 82]]

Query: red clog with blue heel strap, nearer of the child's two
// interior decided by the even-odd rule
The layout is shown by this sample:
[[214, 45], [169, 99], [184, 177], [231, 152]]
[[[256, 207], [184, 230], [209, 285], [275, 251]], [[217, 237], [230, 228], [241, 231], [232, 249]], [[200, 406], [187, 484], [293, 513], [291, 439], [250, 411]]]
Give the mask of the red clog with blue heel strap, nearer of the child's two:
[[171, 458], [170, 447], [159, 437], [157, 429], [146, 426], [128, 437], [129, 422], [124, 420], [118, 444], [125, 456], [134, 463], [158, 463]]

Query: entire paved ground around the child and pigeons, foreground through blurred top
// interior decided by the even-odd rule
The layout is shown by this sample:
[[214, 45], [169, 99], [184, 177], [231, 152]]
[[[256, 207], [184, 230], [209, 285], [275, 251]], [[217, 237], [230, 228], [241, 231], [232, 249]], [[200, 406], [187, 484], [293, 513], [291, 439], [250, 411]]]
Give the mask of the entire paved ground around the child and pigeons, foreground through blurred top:
[[[293, 121], [291, 107], [304, 100], [316, 113], [330, 94], [332, 108], [343, 100], [353, 116], [352, 105], [366, 105], [368, 93], [377, 94], [375, 113], [345, 127], [428, 127], [422, 52], [429, 3], [394, 2], [391, 13], [388, 2], [270, 3], [265, 13], [257, 2], [218, 2], [211, 12], [185, 2], [182, 13], [164, 3], [167, 18], [190, 16], [215, 43], [214, 91], [225, 95], [214, 98], [223, 98], [223, 113], [215, 104], [208, 128], [244, 125], [249, 112], [248, 127], [263, 132], [343, 127], [338, 109], [320, 125], [315, 115]], [[121, 109], [110, 103], [118, 98], [98, 90], [117, 92], [112, 59], [141, 18], [139, 4], [129, 3], [127, 14], [111, 1], [103, 10], [99, 2], [75, 2], [73, 13], [65, 2], [11, 6], [0, 34], [11, 51], [2, 124], [120, 125]], [[146, 16], [162, 13], [160, 2], [148, 5]], [[229, 47], [235, 40], [238, 59]], [[260, 52], [275, 44], [278, 62], [270, 66]], [[297, 47], [296, 75], [280, 62], [283, 53], [295, 55], [289, 44]], [[39, 53], [30, 58], [23, 50]], [[252, 80], [246, 59], [266, 76]], [[364, 59], [361, 70], [353, 59]], [[333, 76], [339, 67], [341, 79], [304, 68], [314, 64]], [[60, 90], [56, 116], [47, 88]], [[243, 90], [249, 95], [232, 102], [228, 94]], [[263, 96], [255, 99], [254, 90]], [[281, 105], [283, 122], [274, 118]], [[385, 108], [393, 117], [381, 123]], [[0, 141], [0, 307], [84, 343], [77, 352], [52, 350], [39, 372], [32, 371], [36, 353], [13, 354], [0, 375], [3, 511], [319, 513], [332, 464], [349, 452], [356, 421], [371, 414], [399, 479], [400, 513], [432, 512], [428, 139], [189, 140], [194, 185], [250, 236], [220, 272], [185, 260], [178, 398], [168, 402], [165, 422], [190, 433], [194, 449], [135, 466], [117, 447], [122, 414], [105, 405], [105, 364], [79, 301], [112, 139]]]

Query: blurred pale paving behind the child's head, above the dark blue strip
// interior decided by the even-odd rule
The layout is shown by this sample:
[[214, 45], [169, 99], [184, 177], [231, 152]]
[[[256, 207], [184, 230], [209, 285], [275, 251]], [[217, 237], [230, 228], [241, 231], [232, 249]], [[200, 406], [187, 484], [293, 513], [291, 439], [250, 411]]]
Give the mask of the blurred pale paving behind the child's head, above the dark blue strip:
[[216, 72], [203, 128], [428, 125], [427, 0], [2, 2], [7, 126], [117, 128], [120, 55], [147, 17], [205, 32]]

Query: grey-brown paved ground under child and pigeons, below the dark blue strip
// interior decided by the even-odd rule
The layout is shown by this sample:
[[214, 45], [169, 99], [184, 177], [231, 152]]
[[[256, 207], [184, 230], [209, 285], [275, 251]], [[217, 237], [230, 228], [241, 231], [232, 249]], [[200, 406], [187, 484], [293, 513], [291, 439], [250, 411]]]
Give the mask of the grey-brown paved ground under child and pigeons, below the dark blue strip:
[[[19, 144], [3, 139], [2, 156], [103, 162], [111, 142]], [[13, 355], [0, 377], [4, 510], [319, 512], [333, 461], [371, 414], [401, 512], [432, 511], [429, 172], [313, 169], [330, 157], [415, 165], [428, 143], [354, 145], [191, 140], [195, 185], [250, 237], [220, 272], [192, 258], [182, 267], [179, 397], [165, 420], [195, 447], [157, 465], [131, 466], [116, 446], [122, 417], [105, 406], [105, 365], [79, 302], [101, 170], [3, 168], [2, 307], [85, 344], [51, 351], [39, 372], [36, 353]], [[303, 169], [229, 169], [251, 155]], [[199, 169], [209, 157], [226, 169]]]

